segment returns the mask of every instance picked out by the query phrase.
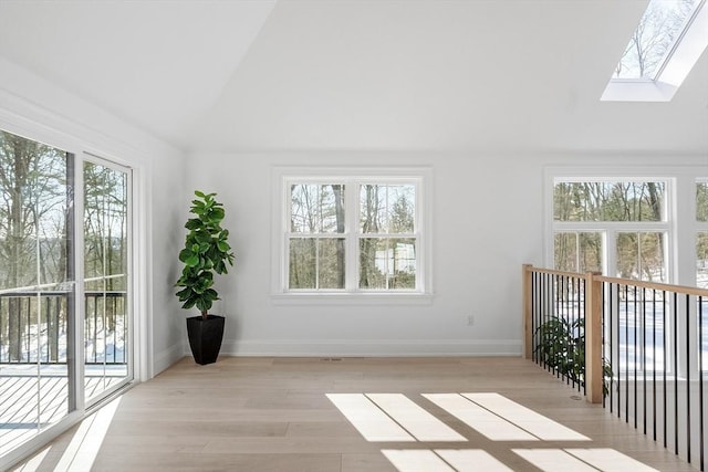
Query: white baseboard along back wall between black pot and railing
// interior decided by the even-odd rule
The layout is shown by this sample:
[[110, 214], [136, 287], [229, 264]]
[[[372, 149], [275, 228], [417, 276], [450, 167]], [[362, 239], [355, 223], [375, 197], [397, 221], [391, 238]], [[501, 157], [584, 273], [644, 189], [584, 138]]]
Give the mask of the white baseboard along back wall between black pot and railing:
[[221, 344], [223, 356], [292, 356], [292, 357], [352, 357], [352, 356], [520, 356], [522, 343], [518, 339], [337, 339], [337, 340], [233, 340]]

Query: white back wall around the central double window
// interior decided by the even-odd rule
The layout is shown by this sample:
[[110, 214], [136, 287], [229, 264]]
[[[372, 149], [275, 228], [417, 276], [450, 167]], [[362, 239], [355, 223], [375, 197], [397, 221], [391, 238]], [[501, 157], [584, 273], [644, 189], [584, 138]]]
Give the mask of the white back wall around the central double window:
[[[218, 280], [222, 354], [520, 355], [521, 265], [543, 264], [546, 166], [706, 165], [705, 156], [421, 153], [195, 154], [191, 186], [219, 193], [236, 265]], [[282, 304], [271, 297], [273, 166], [433, 169], [434, 297], [427, 305]], [[186, 208], [186, 207], [185, 207]], [[186, 216], [186, 212], [185, 212]], [[468, 326], [468, 316], [475, 317]]]

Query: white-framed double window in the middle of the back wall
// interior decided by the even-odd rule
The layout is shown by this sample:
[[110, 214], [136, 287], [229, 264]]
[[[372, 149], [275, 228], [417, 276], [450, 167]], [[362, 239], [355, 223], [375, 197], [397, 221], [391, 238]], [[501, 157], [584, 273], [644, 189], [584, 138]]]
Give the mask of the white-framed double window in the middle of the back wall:
[[426, 169], [278, 169], [277, 294], [429, 292]]

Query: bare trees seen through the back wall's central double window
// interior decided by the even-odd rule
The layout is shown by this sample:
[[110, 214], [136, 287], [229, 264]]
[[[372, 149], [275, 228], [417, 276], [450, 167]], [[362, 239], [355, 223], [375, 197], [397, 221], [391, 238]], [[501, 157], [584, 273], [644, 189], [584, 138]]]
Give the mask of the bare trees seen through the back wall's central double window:
[[[351, 188], [358, 189], [358, 211], [345, 208]], [[289, 190], [289, 290], [345, 289], [347, 238], [357, 249], [360, 289], [415, 289], [415, 186], [293, 183]]]

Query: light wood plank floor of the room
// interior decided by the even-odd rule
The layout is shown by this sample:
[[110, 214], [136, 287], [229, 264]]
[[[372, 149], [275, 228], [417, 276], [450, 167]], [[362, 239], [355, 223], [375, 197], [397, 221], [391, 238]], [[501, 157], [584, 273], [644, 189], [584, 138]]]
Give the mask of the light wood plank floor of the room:
[[[590, 440], [491, 440], [423, 396], [475, 392], [497, 392]], [[414, 408], [418, 416], [429, 413], [464, 440], [368, 441], [327, 394], [403, 394], [420, 407]], [[75, 470], [94, 471], [429, 472], [435, 469], [416, 458], [441, 462], [441, 457], [483, 451], [487, 459], [506, 466], [499, 470], [539, 471], [553, 470], [527, 460], [539, 451], [577, 461], [565, 450], [592, 457], [611, 449], [615, 454], [608, 455], [614, 458], [612, 466], [590, 470], [639, 470], [632, 461], [660, 471], [695, 470], [601, 406], [577, 399], [577, 395], [520, 358], [226, 357], [208, 366], [185, 358], [123, 395], [88, 463], [85, 458], [73, 463], [83, 464]], [[62, 469], [56, 468], [60, 463], [71, 464], [66, 451], [82, 454], [82, 449], [75, 448], [80, 428], [66, 432], [33, 462], [17, 470], [53, 471]], [[85, 430], [82, 434], [94, 442], [98, 436]], [[394, 465], [392, 460], [400, 457], [413, 458], [413, 463]], [[447, 469], [440, 470], [491, 470], [476, 461], [456, 468], [446, 461]], [[587, 463], [592, 461], [583, 466]], [[561, 470], [580, 469], [565, 465]]]

